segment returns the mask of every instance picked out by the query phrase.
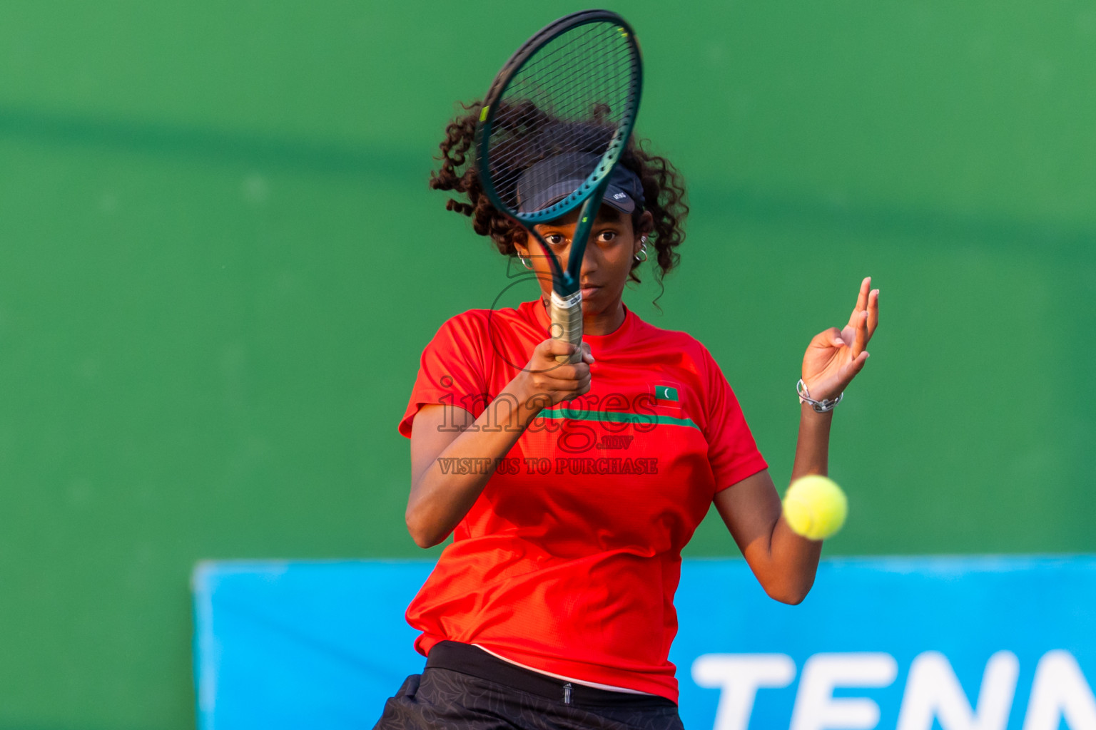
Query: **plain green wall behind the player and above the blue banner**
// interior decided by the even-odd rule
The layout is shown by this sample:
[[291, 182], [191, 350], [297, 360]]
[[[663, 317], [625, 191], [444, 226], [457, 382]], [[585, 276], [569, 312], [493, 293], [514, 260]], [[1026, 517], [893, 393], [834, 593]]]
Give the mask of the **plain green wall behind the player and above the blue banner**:
[[[694, 211], [629, 302], [708, 344], [778, 483], [803, 348], [883, 292], [827, 554], [1096, 549], [1096, 8], [607, 5]], [[423, 555], [396, 422], [506, 281], [431, 157], [580, 7], [0, 3], [0, 727], [193, 727], [198, 559]]]

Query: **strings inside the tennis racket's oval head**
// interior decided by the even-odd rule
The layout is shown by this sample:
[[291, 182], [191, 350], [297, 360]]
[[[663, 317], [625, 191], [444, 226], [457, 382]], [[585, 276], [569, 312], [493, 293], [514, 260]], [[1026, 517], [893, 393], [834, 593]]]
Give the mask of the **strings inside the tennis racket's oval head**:
[[525, 61], [500, 96], [488, 140], [492, 183], [507, 208], [520, 210], [517, 182], [536, 162], [580, 152], [590, 157], [589, 177], [614, 142], [623, 144], [638, 66], [630, 39], [608, 22], [566, 31]]

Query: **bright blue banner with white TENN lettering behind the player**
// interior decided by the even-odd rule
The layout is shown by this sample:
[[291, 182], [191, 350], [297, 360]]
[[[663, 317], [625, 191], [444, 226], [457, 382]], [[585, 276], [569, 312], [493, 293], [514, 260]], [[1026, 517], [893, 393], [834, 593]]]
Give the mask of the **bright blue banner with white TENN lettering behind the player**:
[[[199, 565], [199, 726], [370, 728], [422, 671], [403, 611], [431, 568]], [[826, 560], [798, 606], [686, 560], [676, 605], [689, 730], [1096, 730], [1094, 557]]]

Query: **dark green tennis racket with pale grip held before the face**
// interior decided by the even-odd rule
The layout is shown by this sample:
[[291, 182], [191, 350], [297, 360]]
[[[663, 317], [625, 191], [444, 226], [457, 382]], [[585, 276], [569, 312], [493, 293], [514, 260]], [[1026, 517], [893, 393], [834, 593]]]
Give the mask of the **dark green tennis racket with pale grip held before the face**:
[[[483, 100], [476, 128], [480, 182], [491, 204], [516, 220], [549, 262], [551, 336], [575, 346], [570, 358], [557, 356], [560, 362], [582, 356], [582, 257], [609, 175], [636, 124], [642, 77], [631, 27], [616, 13], [586, 10], [529, 38], [502, 67]], [[532, 185], [541, 195], [530, 199], [529, 175], [549, 158], [578, 170], [569, 175], [574, 182], [549, 185], [547, 198], [545, 185]], [[533, 227], [580, 206], [564, 268]]]

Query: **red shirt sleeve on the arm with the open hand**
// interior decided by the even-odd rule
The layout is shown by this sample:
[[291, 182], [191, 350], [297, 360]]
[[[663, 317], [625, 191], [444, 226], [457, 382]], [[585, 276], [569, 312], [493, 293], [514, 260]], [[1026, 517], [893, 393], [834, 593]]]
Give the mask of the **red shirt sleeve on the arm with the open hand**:
[[716, 491], [720, 491], [768, 468], [768, 464], [757, 450], [739, 399], [723, 371], [707, 349], [704, 350], [704, 358], [708, 389], [705, 438], [708, 441], [708, 462], [716, 477]]

